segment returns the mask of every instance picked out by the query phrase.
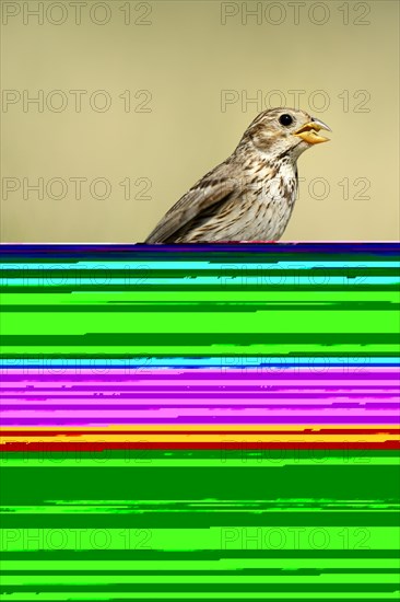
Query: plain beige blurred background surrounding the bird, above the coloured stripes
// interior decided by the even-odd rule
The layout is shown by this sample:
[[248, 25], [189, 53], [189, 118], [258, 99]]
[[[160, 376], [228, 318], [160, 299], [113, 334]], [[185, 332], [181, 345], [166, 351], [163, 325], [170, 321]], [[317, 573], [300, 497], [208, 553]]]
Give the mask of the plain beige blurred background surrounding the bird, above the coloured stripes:
[[[44, 11], [57, 5], [40, 25], [23, 14], [26, 2], [2, 2], [3, 21], [21, 11], [2, 25], [3, 95], [22, 97], [26, 90], [37, 96], [43, 90], [45, 97], [43, 112], [35, 105], [24, 111], [22, 100], [2, 104], [3, 242], [143, 240], [188, 187], [231, 154], [266, 102], [281, 104], [273, 90], [289, 106], [294, 104], [289, 91], [305, 91], [301, 107], [333, 130], [331, 142], [298, 161], [304, 181], [283, 240], [399, 239], [397, 1], [306, 2], [298, 24], [294, 8], [283, 1], [114, 0], [94, 11], [97, 21], [110, 14], [98, 25], [89, 14], [96, 3], [86, 0], [78, 25], [69, 1], [45, 0]], [[33, 10], [38, 2], [28, 4]], [[120, 9], [128, 4], [131, 23], [125, 24]], [[245, 12], [257, 5], [259, 23]], [[317, 24], [327, 10], [327, 22]], [[237, 14], [222, 24], [224, 11]], [[64, 23], [50, 22], [63, 16]], [[64, 111], [46, 106], [54, 90], [67, 97]], [[80, 113], [70, 90], [87, 91]], [[90, 105], [97, 90], [109, 95], [106, 112]], [[130, 112], [119, 97], [126, 90]], [[243, 106], [238, 101], [222, 107], [226, 90]], [[257, 91], [259, 102], [246, 103]], [[51, 100], [56, 106], [60, 96]], [[99, 107], [104, 99], [96, 101]], [[318, 107], [323, 111], [314, 111]], [[26, 189], [40, 177], [43, 199]], [[77, 177], [86, 178], [82, 198], [70, 180]], [[98, 177], [110, 187], [108, 198], [93, 198], [104, 192], [99, 183], [91, 193]], [[64, 182], [64, 198], [49, 198], [61, 190], [52, 178]], [[119, 184], [126, 178], [128, 199]], [[20, 188], [7, 195], [12, 184]]]

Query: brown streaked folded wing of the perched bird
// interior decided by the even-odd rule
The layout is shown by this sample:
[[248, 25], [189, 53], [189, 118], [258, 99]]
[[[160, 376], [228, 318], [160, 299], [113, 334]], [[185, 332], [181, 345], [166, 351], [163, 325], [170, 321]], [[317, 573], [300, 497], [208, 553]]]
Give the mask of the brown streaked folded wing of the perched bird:
[[217, 170], [207, 174], [165, 213], [144, 242], [148, 244], [173, 242], [178, 231], [188, 227], [192, 220], [198, 223], [202, 216], [205, 218], [210, 208], [216, 208], [226, 202], [236, 188], [235, 180], [223, 177], [222, 174], [219, 177]]

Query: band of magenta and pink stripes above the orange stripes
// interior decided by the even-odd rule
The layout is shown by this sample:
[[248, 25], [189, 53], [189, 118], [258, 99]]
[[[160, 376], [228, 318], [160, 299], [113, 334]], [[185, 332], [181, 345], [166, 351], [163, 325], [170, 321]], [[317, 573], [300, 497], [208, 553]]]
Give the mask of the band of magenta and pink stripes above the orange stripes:
[[400, 421], [398, 368], [3, 372], [3, 426]]

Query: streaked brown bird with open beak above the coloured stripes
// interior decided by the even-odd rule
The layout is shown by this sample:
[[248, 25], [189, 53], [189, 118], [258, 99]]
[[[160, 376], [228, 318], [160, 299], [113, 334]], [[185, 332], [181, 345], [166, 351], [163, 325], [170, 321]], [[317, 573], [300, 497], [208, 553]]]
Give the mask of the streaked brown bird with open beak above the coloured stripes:
[[225, 161], [201, 177], [161, 219], [145, 244], [274, 242], [291, 218], [297, 159], [331, 129], [298, 108], [263, 111]]

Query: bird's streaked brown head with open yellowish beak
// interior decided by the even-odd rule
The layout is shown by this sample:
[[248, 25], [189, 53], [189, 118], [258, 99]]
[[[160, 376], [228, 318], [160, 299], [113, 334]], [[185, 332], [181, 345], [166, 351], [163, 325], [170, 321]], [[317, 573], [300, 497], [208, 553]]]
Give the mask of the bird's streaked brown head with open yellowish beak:
[[270, 108], [260, 113], [249, 125], [242, 142], [249, 140], [271, 159], [290, 154], [297, 159], [302, 152], [314, 144], [327, 142], [319, 134], [321, 129], [331, 129], [305, 111], [298, 108]]

